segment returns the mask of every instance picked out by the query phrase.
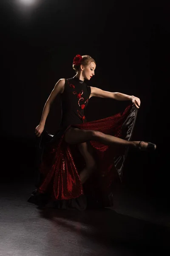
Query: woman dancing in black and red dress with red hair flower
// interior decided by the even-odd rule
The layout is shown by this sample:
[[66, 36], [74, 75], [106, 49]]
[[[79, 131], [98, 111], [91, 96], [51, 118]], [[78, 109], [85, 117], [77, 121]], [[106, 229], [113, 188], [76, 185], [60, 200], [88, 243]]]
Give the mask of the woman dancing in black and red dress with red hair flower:
[[[139, 98], [87, 86], [85, 79], [90, 80], [96, 69], [96, 62], [89, 55], [76, 55], [73, 69], [74, 77], [59, 79], [55, 85], [45, 103], [40, 124], [35, 128], [44, 150], [39, 183], [28, 201], [62, 209], [86, 209], [92, 199], [98, 206], [111, 206], [113, 183], [116, 177], [121, 178], [127, 149], [153, 151], [156, 145], [130, 141], [140, 107]], [[62, 119], [56, 135], [51, 137], [44, 130], [45, 121], [59, 93]], [[130, 100], [133, 104], [123, 113], [87, 122], [84, 111], [93, 96]]]

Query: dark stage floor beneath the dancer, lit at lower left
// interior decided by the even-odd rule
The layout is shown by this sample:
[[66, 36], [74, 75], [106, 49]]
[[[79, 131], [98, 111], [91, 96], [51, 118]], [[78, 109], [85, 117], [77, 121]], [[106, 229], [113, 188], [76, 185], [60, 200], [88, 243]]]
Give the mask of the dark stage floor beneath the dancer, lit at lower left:
[[170, 214], [163, 198], [125, 187], [105, 210], [39, 209], [28, 203], [30, 179], [4, 181], [0, 256], [170, 255]]

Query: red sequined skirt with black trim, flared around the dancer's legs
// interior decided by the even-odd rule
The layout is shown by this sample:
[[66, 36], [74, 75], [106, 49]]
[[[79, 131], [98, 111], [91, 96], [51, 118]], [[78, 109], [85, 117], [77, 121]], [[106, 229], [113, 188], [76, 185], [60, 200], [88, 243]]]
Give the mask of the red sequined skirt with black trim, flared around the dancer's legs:
[[[137, 108], [128, 105], [125, 111], [116, 115], [71, 126], [131, 140], [136, 115]], [[82, 184], [79, 173], [85, 167], [85, 160], [77, 145], [65, 142], [65, 131], [69, 128], [59, 129], [54, 136], [43, 131], [37, 137], [37, 189], [32, 192], [28, 202], [57, 209], [84, 210], [88, 207], [113, 206], [114, 185], [122, 180], [128, 148], [90, 141], [97, 168]]]

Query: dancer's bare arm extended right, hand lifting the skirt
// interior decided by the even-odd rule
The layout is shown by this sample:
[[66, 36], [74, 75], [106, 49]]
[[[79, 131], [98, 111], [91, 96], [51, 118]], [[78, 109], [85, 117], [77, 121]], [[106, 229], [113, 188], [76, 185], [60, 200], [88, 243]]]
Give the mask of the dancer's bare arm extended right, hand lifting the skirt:
[[99, 89], [97, 87], [91, 87], [91, 95], [90, 97], [100, 97], [100, 98], [111, 98], [116, 100], [130, 100], [133, 102], [133, 104], [136, 106], [136, 108], [140, 108], [141, 101], [139, 98], [133, 96], [133, 95], [127, 95], [124, 93], [112, 93], [108, 92], [102, 89]]

